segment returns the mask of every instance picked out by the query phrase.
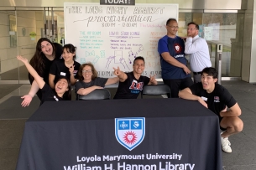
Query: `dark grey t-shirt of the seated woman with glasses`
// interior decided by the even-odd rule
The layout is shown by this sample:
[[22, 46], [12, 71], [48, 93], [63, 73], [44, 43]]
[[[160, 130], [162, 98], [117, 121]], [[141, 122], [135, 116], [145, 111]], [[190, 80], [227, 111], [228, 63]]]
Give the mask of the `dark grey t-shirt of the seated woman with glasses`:
[[93, 85], [104, 87], [105, 84], [107, 83], [107, 80], [108, 80], [107, 78], [97, 77], [95, 80], [91, 80], [91, 82], [89, 82], [89, 83], [86, 83], [82, 80], [77, 81], [75, 84], [75, 93], [77, 94], [77, 91], [80, 90], [81, 88], [86, 89]]

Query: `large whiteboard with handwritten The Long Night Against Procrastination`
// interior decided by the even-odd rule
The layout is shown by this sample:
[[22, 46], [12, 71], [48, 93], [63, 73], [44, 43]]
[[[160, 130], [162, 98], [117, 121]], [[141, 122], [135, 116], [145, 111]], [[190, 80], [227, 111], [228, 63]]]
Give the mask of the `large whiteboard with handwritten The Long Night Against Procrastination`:
[[64, 3], [65, 44], [74, 44], [76, 61], [91, 62], [101, 77], [112, 77], [113, 67], [132, 71], [133, 59], [143, 56], [143, 75], [160, 78], [158, 41], [166, 35], [167, 19], [178, 19], [178, 8], [178, 4]]

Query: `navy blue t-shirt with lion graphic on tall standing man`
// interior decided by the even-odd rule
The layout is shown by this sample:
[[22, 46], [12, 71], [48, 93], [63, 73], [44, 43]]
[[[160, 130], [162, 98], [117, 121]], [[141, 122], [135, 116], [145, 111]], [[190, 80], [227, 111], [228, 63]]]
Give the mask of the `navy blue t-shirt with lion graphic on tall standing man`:
[[162, 53], [168, 52], [171, 57], [186, 65], [184, 50], [184, 41], [178, 36], [172, 39], [165, 35], [165, 37], [159, 39], [158, 52], [160, 55], [162, 78], [164, 80], [185, 79], [191, 77], [191, 75], [186, 75], [182, 68], [176, 67], [165, 61], [161, 55]]

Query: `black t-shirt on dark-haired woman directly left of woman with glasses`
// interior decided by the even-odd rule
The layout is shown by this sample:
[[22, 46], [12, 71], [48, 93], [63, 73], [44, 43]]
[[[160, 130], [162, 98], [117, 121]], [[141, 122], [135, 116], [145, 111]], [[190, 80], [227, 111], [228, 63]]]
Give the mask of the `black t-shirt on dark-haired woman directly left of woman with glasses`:
[[[75, 79], [78, 79], [78, 70], [80, 68], [80, 63], [74, 61], [75, 68], [73, 71], [73, 75]], [[65, 61], [62, 60], [55, 60], [53, 64], [51, 64], [50, 72], [51, 75], [55, 75], [55, 84], [60, 79], [60, 77], [66, 77], [67, 79], [71, 79], [71, 73], [69, 68], [65, 66]]]

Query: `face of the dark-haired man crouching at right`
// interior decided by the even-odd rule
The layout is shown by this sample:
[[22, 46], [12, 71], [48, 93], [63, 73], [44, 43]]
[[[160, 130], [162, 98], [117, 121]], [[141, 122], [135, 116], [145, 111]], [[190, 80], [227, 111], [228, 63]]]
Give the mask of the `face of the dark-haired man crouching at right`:
[[201, 84], [202, 88], [207, 91], [207, 93], [212, 93], [215, 88], [215, 83], [217, 79], [214, 79], [212, 75], [208, 75], [206, 73], [202, 73], [201, 75]]

